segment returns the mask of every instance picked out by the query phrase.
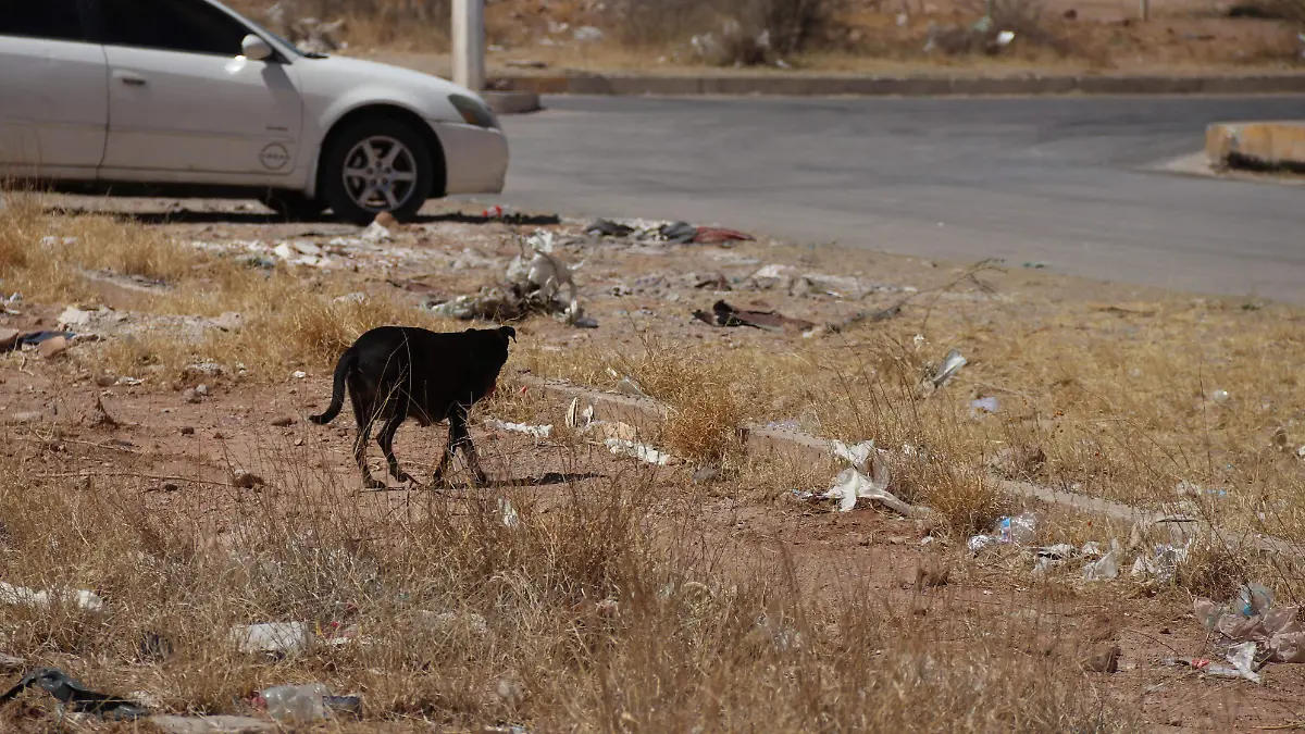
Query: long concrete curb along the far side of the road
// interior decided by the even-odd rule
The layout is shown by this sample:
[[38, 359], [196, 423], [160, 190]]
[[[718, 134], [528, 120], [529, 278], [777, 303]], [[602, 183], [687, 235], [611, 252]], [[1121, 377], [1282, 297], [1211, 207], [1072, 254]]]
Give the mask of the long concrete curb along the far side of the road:
[[852, 77], [817, 74], [636, 76], [566, 73], [500, 76], [489, 89], [535, 94], [766, 95], [766, 97], [949, 97], [1043, 94], [1293, 94], [1305, 74], [1259, 76], [1026, 76]]

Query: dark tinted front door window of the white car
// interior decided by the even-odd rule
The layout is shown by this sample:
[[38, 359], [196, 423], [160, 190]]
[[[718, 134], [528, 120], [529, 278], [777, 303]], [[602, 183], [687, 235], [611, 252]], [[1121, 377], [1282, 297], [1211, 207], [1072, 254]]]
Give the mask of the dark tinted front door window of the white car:
[[238, 56], [243, 24], [202, 0], [99, 0], [100, 42]]

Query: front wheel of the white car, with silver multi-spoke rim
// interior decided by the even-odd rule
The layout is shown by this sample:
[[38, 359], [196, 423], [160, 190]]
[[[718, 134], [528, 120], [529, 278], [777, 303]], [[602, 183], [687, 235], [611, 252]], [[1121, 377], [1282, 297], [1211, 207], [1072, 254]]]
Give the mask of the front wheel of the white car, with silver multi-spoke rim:
[[337, 219], [367, 225], [381, 212], [410, 219], [431, 196], [431, 152], [407, 124], [363, 119], [331, 137], [318, 172], [322, 201]]

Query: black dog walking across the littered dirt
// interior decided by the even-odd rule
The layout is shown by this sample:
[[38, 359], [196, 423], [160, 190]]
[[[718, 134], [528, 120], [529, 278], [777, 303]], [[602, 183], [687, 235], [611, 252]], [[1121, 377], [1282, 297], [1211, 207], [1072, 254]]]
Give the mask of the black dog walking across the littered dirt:
[[399, 469], [394, 457], [394, 434], [408, 418], [422, 426], [448, 418], [449, 443], [435, 470], [435, 481], [440, 482], [453, 452], [462, 448], [476, 483], [484, 485], [485, 474], [467, 435], [467, 410], [493, 394], [499, 372], [508, 362], [509, 338], [517, 341], [517, 330], [512, 327], [442, 334], [416, 327], [372, 329], [358, 337], [335, 364], [330, 406], [308, 419], [321, 426], [339, 415], [347, 383], [358, 422], [354, 460], [363, 470], [364, 486], [380, 490], [385, 483], [372, 477], [365, 460], [372, 422], [385, 422], [376, 443], [385, 452], [390, 475], [408, 482], [411, 477]]

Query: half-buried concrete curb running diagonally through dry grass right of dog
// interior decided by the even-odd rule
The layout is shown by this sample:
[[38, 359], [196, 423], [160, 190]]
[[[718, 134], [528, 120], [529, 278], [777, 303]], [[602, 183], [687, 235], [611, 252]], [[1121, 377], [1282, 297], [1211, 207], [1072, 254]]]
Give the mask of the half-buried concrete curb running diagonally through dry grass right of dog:
[[[651, 398], [606, 393], [539, 377], [526, 376], [522, 377], [522, 381], [530, 387], [542, 389], [545, 394], [559, 398], [562, 404], [569, 404], [572, 400], [579, 398], [582, 405], [589, 404], [594, 406], [595, 419], [629, 423], [639, 434], [645, 435], [654, 435], [667, 417], [666, 406]], [[746, 451], [757, 457], [770, 457], [806, 466], [835, 465], [830, 440], [801, 431], [745, 426], [744, 443]], [[1031, 482], [1014, 482], [994, 475], [988, 477], [988, 481], [1011, 496], [1041, 502], [1070, 512], [1107, 517], [1120, 522], [1141, 524], [1155, 533], [1168, 534], [1168, 542], [1172, 543], [1181, 545], [1199, 530], [1214, 533], [1228, 547], [1245, 547], [1261, 552], [1305, 558], [1305, 547], [1270, 535], [1235, 534], [1203, 520], [1174, 520], [1172, 513], [1142, 509], [1078, 492], [1053, 490]]]

